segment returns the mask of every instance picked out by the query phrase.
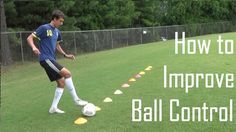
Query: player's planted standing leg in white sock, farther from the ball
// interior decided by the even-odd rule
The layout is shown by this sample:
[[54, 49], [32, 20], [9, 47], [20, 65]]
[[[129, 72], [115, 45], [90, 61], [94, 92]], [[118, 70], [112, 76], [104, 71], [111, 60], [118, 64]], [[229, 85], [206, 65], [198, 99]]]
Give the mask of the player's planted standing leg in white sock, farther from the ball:
[[60, 110], [57, 108], [57, 105], [61, 99], [61, 96], [63, 94], [63, 91], [64, 91], [64, 87], [65, 87], [65, 79], [64, 77], [62, 77], [61, 79], [59, 80], [56, 80], [57, 82], [57, 88], [55, 90], [55, 95], [54, 95], [54, 98], [53, 98], [53, 101], [52, 101], [52, 105], [51, 105], [51, 108], [49, 109], [49, 113], [65, 113], [64, 111]]

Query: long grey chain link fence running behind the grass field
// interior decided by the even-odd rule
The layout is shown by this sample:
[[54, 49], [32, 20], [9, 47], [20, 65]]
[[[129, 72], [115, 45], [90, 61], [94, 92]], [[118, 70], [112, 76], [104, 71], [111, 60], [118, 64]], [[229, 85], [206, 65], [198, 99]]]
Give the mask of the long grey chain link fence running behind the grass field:
[[[78, 55], [130, 45], [170, 40], [175, 38], [175, 32], [186, 32], [186, 37], [192, 37], [232, 31], [235, 31], [235, 26], [232, 22], [228, 21], [110, 30], [62, 31], [63, 43], [61, 46], [67, 53]], [[38, 60], [26, 41], [31, 33], [32, 31], [1, 33], [1, 39], [7, 39], [10, 49], [8, 56], [4, 55], [4, 52], [1, 53], [3, 65], [7, 64], [4, 62], [3, 57], [8, 57], [8, 60], [10, 58], [12, 62], [22, 63]]]

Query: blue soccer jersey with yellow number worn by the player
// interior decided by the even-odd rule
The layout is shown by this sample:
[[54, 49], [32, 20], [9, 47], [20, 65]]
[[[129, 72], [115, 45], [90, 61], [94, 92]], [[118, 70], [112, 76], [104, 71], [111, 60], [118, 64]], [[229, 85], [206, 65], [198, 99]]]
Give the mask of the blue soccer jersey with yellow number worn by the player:
[[41, 52], [39, 61], [46, 59], [55, 61], [56, 45], [62, 41], [60, 31], [50, 24], [44, 24], [38, 27], [33, 35], [39, 39], [39, 51]]

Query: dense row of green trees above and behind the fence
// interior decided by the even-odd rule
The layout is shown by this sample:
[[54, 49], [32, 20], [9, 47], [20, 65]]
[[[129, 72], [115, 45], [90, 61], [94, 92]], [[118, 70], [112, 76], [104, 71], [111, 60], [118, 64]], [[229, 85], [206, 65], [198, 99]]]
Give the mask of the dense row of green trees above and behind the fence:
[[62, 30], [97, 30], [233, 21], [234, 0], [4, 0], [8, 30], [34, 30], [62, 10]]

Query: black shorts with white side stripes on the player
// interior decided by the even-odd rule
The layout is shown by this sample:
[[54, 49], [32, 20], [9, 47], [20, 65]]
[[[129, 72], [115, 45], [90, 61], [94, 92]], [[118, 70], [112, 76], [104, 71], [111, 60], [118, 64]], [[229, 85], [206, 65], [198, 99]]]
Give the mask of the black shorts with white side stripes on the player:
[[50, 79], [51, 82], [62, 78], [62, 76], [59, 73], [63, 68], [63, 66], [58, 64], [56, 61], [47, 59], [44, 61], [40, 61], [40, 65], [46, 71], [48, 78]]

